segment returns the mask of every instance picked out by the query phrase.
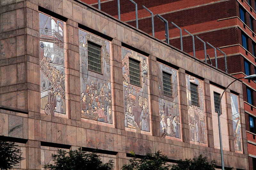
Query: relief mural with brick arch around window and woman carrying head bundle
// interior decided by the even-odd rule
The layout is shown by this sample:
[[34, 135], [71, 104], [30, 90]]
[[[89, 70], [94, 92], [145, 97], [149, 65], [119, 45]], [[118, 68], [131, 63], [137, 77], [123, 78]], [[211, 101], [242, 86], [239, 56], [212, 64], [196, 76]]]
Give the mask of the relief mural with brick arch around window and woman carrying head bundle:
[[[129, 58], [140, 61], [140, 87], [130, 84]], [[148, 58], [122, 48], [124, 123], [136, 132], [150, 132]]]

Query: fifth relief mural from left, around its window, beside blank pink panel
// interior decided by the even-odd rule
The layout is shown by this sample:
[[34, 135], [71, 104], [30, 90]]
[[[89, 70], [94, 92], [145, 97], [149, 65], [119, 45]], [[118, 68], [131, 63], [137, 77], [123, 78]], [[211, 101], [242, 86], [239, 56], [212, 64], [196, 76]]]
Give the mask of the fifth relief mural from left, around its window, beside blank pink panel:
[[[191, 104], [190, 82], [198, 85], [199, 106]], [[193, 76], [186, 75], [187, 99], [188, 99], [188, 125], [190, 141], [196, 144], [206, 144], [206, 121], [204, 110], [203, 81]]]

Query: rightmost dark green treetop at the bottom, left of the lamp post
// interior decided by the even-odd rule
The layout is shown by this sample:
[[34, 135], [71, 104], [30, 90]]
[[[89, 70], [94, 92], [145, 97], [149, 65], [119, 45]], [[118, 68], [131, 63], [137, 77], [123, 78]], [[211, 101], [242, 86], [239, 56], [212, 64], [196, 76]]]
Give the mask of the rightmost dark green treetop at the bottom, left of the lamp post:
[[207, 162], [207, 157], [199, 155], [198, 158], [178, 160], [176, 165], [172, 165], [171, 170], [215, 170], [216, 161]]

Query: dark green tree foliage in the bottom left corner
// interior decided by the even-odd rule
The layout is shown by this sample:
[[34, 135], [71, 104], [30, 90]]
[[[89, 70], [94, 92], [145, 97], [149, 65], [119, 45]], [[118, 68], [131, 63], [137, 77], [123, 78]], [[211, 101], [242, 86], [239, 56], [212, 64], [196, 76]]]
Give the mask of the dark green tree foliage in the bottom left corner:
[[14, 142], [0, 140], [0, 169], [12, 169], [24, 158], [21, 157], [20, 149]]

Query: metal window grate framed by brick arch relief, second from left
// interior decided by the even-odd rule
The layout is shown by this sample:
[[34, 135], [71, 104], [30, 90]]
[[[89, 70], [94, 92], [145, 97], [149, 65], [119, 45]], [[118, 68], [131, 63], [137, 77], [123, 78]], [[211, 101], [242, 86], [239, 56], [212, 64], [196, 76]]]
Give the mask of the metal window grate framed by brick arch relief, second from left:
[[140, 86], [140, 62], [129, 58], [130, 83]]

